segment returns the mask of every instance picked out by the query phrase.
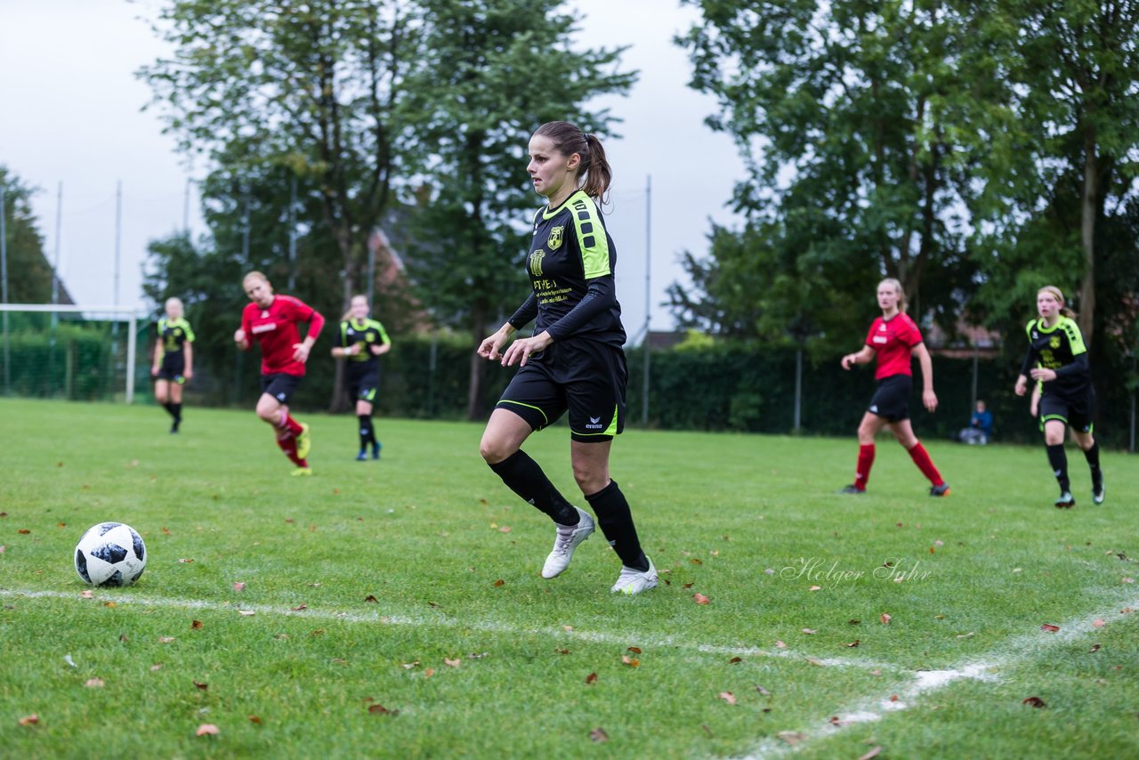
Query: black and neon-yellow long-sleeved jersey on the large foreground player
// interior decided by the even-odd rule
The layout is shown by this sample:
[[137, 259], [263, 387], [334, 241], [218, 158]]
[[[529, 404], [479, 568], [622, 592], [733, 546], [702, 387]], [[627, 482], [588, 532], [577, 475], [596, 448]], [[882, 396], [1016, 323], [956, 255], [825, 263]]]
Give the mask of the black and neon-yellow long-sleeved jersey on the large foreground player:
[[518, 328], [535, 319], [534, 334], [555, 341], [583, 337], [621, 346], [625, 329], [615, 294], [617, 252], [597, 204], [577, 190], [557, 209], [534, 214], [526, 256], [533, 293], [510, 318]]

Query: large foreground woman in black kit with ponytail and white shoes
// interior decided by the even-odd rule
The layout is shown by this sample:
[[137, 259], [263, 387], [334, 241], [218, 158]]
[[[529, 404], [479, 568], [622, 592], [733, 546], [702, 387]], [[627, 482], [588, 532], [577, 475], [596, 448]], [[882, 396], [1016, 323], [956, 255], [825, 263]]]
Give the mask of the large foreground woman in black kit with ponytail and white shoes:
[[[500, 359], [505, 367], [519, 365], [486, 423], [480, 452], [510, 490], [557, 526], [554, 550], [542, 566], [542, 578], [554, 578], [593, 532], [593, 518], [566, 501], [521, 447], [568, 411], [574, 479], [621, 557], [612, 590], [639, 594], [656, 586], [656, 569], [641, 550], [629, 502], [609, 479], [609, 448], [624, 427], [628, 382], [625, 330], [613, 279], [616, 248], [598, 211], [613, 172], [597, 137], [566, 122], [538, 128], [526, 170], [534, 190], [547, 199], [534, 214], [526, 258], [533, 292], [478, 346], [481, 357]], [[533, 336], [506, 348], [532, 319]]]

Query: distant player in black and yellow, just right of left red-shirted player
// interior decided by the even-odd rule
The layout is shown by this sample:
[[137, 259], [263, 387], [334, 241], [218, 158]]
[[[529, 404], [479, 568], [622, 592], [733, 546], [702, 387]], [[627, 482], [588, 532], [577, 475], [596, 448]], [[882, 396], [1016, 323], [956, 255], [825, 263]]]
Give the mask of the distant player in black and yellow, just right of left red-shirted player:
[[379, 321], [371, 319], [368, 311], [368, 296], [352, 296], [351, 310], [341, 322], [341, 344], [333, 348], [334, 357], [347, 359], [344, 383], [349, 394], [355, 399], [357, 419], [360, 422], [360, 453], [357, 455], [357, 461], [368, 459], [369, 444], [371, 458], [379, 459], [383, 443], [376, 440], [371, 410], [379, 389], [379, 357], [392, 350], [387, 330]]

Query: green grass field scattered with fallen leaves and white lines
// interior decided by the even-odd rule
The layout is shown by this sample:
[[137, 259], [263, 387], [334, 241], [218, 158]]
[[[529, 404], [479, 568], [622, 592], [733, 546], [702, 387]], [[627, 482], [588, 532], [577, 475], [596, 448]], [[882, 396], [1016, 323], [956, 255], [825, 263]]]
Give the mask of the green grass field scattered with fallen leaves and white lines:
[[[1071, 449], [1062, 512], [1042, 447], [927, 440], [931, 499], [884, 439], [842, 497], [853, 432], [631, 431], [613, 473], [662, 583], [623, 598], [599, 533], [539, 577], [552, 526], [481, 426], [380, 420], [357, 463], [353, 417], [302, 419], [311, 479], [252, 410], [173, 436], [156, 407], [0, 400], [0, 753], [1139, 757], [1133, 457], [1093, 507]], [[579, 496], [565, 428], [526, 448]], [[147, 570], [84, 598], [72, 550], [108, 520]]]

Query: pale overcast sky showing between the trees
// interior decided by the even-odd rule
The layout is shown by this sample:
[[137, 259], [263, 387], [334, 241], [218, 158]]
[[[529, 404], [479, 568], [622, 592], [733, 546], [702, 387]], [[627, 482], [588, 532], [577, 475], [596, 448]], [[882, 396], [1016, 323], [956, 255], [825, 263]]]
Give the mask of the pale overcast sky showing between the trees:
[[[161, 5], [0, 0], [0, 164], [40, 188], [33, 205], [49, 258], [63, 182], [59, 269], [83, 305], [115, 301], [116, 181], [123, 188], [117, 302], [147, 307], [147, 243], [182, 227], [187, 180], [206, 171], [186, 165], [156, 112], [140, 111], [150, 91], [134, 72], [169, 52], [140, 17], [153, 18]], [[568, 0], [566, 7], [577, 9], [579, 40], [631, 46], [624, 68], [640, 71], [630, 97], [600, 101], [624, 120], [622, 138], [606, 142], [615, 173], [607, 220], [632, 336], [645, 322], [645, 186], [652, 175], [652, 326], [667, 329], [672, 318], [659, 303], [665, 287], [682, 278], [678, 254], [706, 251], [710, 218], [732, 221], [724, 204], [741, 175], [730, 139], [703, 124], [714, 100], [688, 89], [687, 56], [672, 44], [697, 15], [677, 0]], [[189, 220], [195, 236], [205, 231], [196, 194]]]

